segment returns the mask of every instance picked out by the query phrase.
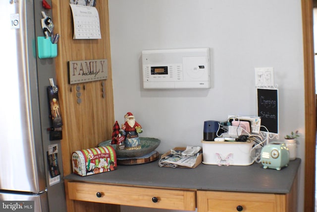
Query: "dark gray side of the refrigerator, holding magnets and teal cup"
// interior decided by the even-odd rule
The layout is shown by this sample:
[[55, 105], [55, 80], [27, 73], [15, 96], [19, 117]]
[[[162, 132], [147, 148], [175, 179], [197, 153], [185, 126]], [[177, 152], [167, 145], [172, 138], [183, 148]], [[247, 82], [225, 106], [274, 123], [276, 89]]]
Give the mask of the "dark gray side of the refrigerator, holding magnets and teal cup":
[[[52, 0], [47, 0], [50, 5], [52, 4]], [[41, 19], [43, 11], [42, 1], [38, 0], [35, 1], [34, 4], [34, 17], [35, 17], [35, 35], [44, 36], [42, 26], [41, 26]], [[52, 10], [44, 10], [46, 14], [52, 17], [54, 22], [54, 17], [52, 16]], [[53, 32], [58, 33], [57, 31]], [[46, 181], [47, 181], [47, 190], [48, 190], [48, 200], [49, 200], [49, 208], [50, 212], [66, 212], [66, 198], [65, 198], [65, 190], [64, 190], [64, 180], [63, 180], [63, 167], [62, 167], [62, 152], [61, 152], [61, 145], [62, 141], [55, 140], [50, 141], [50, 133], [47, 131], [47, 128], [52, 126], [50, 115], [50, 107], [48, 102], [48, 94], [47, 94], [47, 86], [50, 85], [49, 78], [53, 78], [55, 84], [58, 86], [58, 82], [56, 80], [56, 73], [55, 73], [55, 59], [48, 58], [48, 59], [39, 59], [37, 56], [37, 77], [38, 77], [38, 93], [39, 93], [39, 102], [40, 102], [40, 115], [41, 115], [41, 131], [42, 131], [42, 142], [43, 142], [43, 156], [45, 161], [45, 174], [46, 174]], [[61, 111], [62, 113], [63, 111]], [[48, 167], [48, 159], [47, 159], [47, 152], [49, 150], [50, 145], [57, 145], [57, 162], [59, 166], [60, 175], [57, 176], [57, 181], [53, 179], [49, 174], [49, 167]], [[51, 182], [50, 182], [51, 180]]]

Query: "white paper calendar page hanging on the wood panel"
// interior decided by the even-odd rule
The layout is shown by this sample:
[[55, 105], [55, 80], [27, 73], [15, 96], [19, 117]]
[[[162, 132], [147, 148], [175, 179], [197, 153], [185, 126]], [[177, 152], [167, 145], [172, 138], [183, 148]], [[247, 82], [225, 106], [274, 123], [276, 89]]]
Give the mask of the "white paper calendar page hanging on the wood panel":
[[73, 39], [101, 39], [98, 10], [94, 6], [70, 4], [73, 23]]

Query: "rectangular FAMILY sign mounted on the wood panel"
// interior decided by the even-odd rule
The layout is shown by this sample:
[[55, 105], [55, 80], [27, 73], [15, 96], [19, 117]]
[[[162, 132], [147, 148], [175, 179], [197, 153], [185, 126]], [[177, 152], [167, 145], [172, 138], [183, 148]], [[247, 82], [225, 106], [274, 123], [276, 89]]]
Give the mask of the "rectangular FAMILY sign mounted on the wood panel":
[[68, 62], [68, 83], [76, 84], [104, 80], [108, 76], [106, 59]]

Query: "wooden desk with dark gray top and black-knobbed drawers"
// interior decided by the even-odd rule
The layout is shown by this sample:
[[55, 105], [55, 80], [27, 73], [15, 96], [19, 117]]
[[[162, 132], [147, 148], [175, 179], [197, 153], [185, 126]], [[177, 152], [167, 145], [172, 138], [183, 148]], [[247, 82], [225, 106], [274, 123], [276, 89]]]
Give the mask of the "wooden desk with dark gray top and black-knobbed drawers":
[[[198, 208], [198, 212], [211, 210], [215, 207], [212, 205], [213, 201], [225, 201], [225, 207], [234, 209], [238, 206], [248, 207], [249, 211], [253, 203], [257, 207], [259, 203], [263, 203], [265, 208], [259, 207], [257, 212], [296, 212], [297, 173], [300, 163], [301, 159], [297, 158], [280, 171], [264, 169], [258, 163], [250, 166], [200, 164], [196, 168], [159, 167], [158, 161], [140, 165], [118, 165], [116, 170], [106, 173], [85, 177], [75, 174], [65, 176], [65, 184], [68, 185], [66, 198], [68, 201], [161, 209], [195, 211]], [[170, 194], [171, 192], [176, 193]], [[113, 198], [125, 193], [127, 195], [122, 199]], [[164, 197], [164, 194], [170, 196]], [[221, 197], [223, 195], [226, 197]], [[248, 198], [248, 195], [255, 197], [254, 200]], [[229, 201], [232, 206], [228, 198], [232, 198]]]

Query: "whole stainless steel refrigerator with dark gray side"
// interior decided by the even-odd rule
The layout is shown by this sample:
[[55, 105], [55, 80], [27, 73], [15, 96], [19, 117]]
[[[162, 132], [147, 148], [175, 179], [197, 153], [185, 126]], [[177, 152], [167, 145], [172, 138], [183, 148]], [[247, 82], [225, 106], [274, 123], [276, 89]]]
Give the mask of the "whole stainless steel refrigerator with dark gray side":
[[[0, 0], [0, 212], [16, 206], [25, 209], [15, 212], [66, 211], [62, 141], [50, 141], [47, 131], [52, 127], [47, 86], [55, 64], [37, 56], [37, 37], [45, 36], [42, 11], [52, 15], [42, 0]], [[50, 176], [48, 163], [52, 145], [57, 178]]]

